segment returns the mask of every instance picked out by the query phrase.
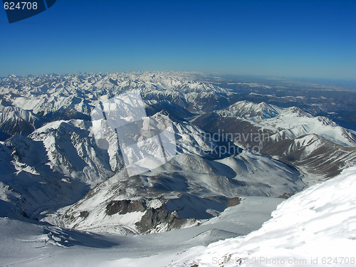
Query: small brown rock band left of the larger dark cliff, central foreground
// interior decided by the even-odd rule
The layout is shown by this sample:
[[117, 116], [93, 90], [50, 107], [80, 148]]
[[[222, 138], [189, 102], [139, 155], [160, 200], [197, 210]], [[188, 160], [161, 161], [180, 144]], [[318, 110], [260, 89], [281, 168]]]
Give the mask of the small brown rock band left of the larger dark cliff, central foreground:
[[112, 200], [106, 206], [106, 214], [127, 214], [133, 211], [145, 211], [146, 204], [145, 200]]

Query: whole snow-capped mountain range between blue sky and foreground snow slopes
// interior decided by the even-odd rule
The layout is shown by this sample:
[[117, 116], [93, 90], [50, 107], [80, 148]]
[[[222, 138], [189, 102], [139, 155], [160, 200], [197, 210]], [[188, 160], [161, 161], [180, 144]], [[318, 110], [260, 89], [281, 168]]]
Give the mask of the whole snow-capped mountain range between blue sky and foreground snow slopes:
[[[244, 199], [288, 199], [355, 165], [354, 130], [285, 98], [252, 101], [273, 88], [184, 72], [1, 78], [0, 216], [58, 231], [163, 233], [213, 224]], [[176, 147], [133, 176], [119, 129], [103, 149], [91, 117], [131, 90], [157, 128], [172, 122]]]

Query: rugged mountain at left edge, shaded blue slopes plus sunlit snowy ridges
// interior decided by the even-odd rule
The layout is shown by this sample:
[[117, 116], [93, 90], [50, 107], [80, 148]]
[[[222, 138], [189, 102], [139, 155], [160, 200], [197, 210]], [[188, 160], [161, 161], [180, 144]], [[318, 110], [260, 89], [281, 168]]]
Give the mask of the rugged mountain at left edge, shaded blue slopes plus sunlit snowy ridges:
[[1, 142], [0, 181], [9, 188], [4, 195], [16, 192], [9, 202], [41, 218], [112, 176], [117, 162], [110, 165], [108, 152], [90, 137], [90, 126], [83, 120], [49, 122], [27, 137], [15, 134]]

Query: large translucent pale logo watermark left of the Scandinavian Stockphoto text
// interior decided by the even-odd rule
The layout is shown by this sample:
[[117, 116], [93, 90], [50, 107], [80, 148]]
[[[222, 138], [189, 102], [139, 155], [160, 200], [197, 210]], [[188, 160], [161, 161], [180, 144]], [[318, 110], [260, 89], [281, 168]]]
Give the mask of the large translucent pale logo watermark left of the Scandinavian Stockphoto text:
[[108, 150], [108, 140], [117, 138], [129, 176], [155, 169], [177, 153], [172, 121], [148, 117], [139, 90], [103, 100], [91, 119], [98, 147]]

